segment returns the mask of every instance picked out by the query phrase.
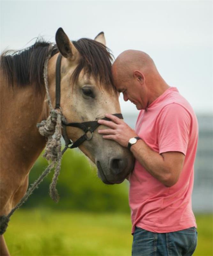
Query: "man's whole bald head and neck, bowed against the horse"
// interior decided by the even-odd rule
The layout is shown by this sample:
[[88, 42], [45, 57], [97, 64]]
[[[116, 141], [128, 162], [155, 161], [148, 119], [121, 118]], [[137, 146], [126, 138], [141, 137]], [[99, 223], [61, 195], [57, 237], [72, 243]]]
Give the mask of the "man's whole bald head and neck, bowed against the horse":
[[113, 83], [124, 100], [130, 100], [138, 110], [146, 109], [151, 102], [169, 88], [160, 76], [154, 61], [141, 51], [122, 52], [112, 65]]

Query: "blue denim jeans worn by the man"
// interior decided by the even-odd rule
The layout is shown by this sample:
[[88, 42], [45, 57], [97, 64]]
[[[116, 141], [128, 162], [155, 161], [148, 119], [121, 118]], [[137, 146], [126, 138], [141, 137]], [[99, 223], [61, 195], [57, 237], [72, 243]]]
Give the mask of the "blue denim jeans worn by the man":
[[132, 256], [188, 256], [193, 254], [196, 245], [195, 227], [169, 233], [154, 233], [135, 227]]

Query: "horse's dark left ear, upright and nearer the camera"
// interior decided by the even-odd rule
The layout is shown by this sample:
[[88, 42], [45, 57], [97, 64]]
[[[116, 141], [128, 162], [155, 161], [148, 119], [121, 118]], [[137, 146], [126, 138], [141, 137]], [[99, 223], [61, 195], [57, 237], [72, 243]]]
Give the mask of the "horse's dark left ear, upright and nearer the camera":
[[65, 57], [65, 58], [74, 58], [77, 49], [75, 46], [70, 42], [70, 39], [65, 34], [64, 30], [62, 28], [58, 28], [56, 32], [56, 44], [58, 47], [59, 52]]

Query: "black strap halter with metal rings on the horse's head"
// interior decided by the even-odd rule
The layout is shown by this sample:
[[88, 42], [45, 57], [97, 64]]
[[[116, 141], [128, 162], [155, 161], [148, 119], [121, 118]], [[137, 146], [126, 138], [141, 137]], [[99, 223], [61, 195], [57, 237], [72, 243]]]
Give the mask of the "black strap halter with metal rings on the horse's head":
[[[61, 97], [61, 58], [62, 55], [59, 53], [56, 62], [56, 107], [60, 108], [60, 97]], [[61, 109], [61, 108], [60, 108]], [[117, 116], [120, 119], [123, 119], [122, 114], [113, 114], [113, 116]], [[109, 118], [104, 117], [101, 118], [103, 120], [111, 121]], [[62, 120], [63, 127], [63, 137], [65, 140], [65, 148], [77, 148], [82, 142], [85, 140], [91, 140], [93, 137], [93, 132], [99, 126], [97, 121], [83, 122], [83, 123], [67, 123], [65, 120]], [[72, 142], [66, 133], [66, 126], [78, 127], [83, 130], [85, 133], [75, 142]], [[88, 132], [90, 132], [90, 136], [88, 136]], [[71, 145], [71, 146], [69, 146]]]

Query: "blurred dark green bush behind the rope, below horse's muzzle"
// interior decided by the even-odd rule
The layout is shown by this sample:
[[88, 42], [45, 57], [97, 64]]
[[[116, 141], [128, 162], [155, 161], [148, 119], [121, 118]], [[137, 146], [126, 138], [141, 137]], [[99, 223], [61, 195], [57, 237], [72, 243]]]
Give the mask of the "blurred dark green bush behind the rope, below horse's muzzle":
[[[29, 183], [38, 178], [47, 166], [40, 156], [30, 172]], [[72, 209], [87, 211], [129, 212], [128, 183], [106, 185], [96, 174], [95, 166], [77, 150], [67, 150], [62, 159], [57, 189], [58, 204], [49, 197], [49, 184], [53, 171], [29, 197], [23, 207], [49, 207], [55, 210]]]

